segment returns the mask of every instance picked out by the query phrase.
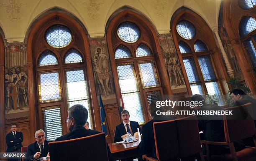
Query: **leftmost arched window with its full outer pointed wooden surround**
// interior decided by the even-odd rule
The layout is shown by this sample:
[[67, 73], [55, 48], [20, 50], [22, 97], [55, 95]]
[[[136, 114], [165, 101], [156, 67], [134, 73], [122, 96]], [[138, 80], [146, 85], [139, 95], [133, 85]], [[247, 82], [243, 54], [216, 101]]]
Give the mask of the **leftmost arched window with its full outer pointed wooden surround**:
[[[59, 11], [45, 15], [36, 23], [38, 25], [28, 35], [27, 46], [28, 62], [36, 66], [35, 69], [29, 68], [28, 63], [28, 77], [33, 78], [33, 73], [36, 73], [36, 81], [28, 82], [28, 86], [37, 93], [37, 99], [34, 101], [34, 96], [29, 95], [29, 101], [32, 105], [38, 104], [39, 111], [39, 127], [32, 125], [32, 128], [44, 129], [48, 139], [67, 133], [68, 108], [74, 104], [87, 108], [87, 121], [91, 128], [97, 128], [97, 118], [92, 118], [97, 117], [93, 114], [97, 107], [92, 106], [97, 104], [97, 97], [95, 92], [89, 92], [95, 87], [91, 62], [84, 62], [85, 55], [89, 59], [91, 56], [86, 33], [81, 32], [83, 27], [77, 20]], [[89, 80], [92, 82], [90, 86], [87, 83]], [[36, 120], [33, 111], [35, 108], [31, 107], [30, 118]]]

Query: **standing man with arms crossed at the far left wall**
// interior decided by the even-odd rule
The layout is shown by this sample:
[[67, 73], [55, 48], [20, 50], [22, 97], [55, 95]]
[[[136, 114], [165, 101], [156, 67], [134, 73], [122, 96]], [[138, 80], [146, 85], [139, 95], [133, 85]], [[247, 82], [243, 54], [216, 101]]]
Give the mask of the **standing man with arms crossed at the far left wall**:
[[[7, 150], [6, 152], [20, 152], [23, 142], [22, 132], [17, 131], [17, 125], [11, 125], [11, 132], [5, 137]], [[8, 159], [8, 161], [18, 161], [18, 159]]]

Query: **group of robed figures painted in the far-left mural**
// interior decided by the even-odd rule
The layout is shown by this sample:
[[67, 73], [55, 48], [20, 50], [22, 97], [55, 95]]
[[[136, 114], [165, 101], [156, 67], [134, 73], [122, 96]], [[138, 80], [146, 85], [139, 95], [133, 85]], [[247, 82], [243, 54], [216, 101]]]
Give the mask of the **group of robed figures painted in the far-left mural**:
[[28, 107], [27, 80], [26, 66], [11, 67], [10, 70], [5, 68], [6, 113]]

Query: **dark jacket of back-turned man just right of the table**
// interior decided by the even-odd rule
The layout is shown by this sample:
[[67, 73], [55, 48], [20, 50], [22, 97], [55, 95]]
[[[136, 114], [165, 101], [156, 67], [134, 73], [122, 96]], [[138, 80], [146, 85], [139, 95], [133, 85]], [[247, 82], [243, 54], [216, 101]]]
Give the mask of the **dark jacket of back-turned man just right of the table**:
[[142, 154], [146, 154], [149, 157], [157, 158], [156, 156], [156, 146], [154, 138], [154, 128], [153, 123], [164, 120], [151, 120], [148, 121], [141, 129], [141, 142], [139, 144], [140, 151]]

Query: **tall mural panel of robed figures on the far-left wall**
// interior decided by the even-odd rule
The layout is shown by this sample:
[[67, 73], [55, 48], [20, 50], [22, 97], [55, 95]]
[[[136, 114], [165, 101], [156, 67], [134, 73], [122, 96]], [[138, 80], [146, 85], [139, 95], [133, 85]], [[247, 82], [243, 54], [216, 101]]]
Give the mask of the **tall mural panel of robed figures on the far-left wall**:
[[26, 45], [8, 43], [5, 60], [5, 113], [26, 112], [29, 110]]

